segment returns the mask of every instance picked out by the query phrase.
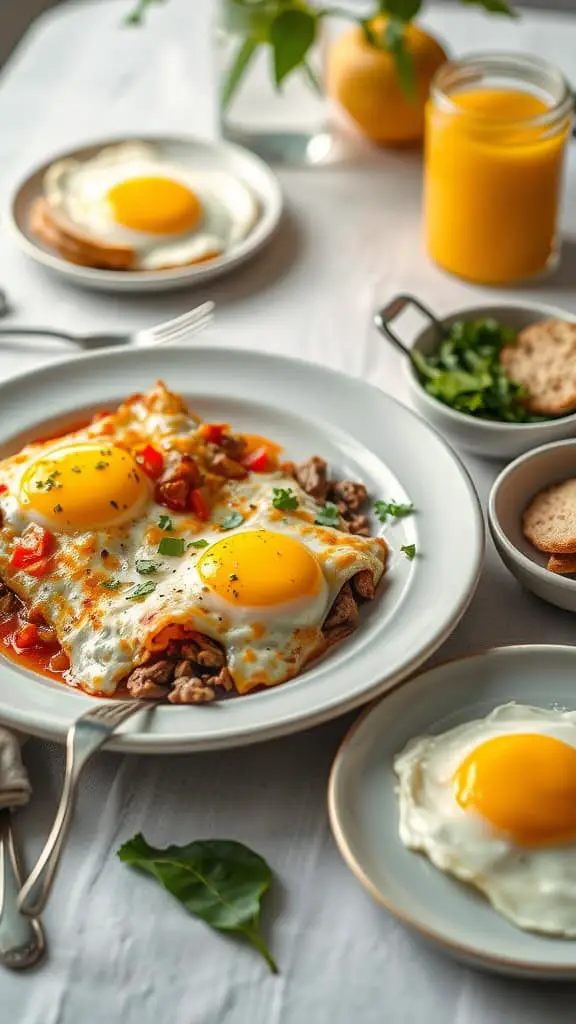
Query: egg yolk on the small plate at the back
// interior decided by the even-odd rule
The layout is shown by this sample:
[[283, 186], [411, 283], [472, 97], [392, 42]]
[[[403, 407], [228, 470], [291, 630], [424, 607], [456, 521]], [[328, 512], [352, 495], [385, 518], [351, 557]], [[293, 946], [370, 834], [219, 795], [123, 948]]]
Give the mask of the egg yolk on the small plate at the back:
[[202, 216], [198, 196], [171, 178], [127, 178], [113, 185], [107, 198], [118, 224], [150, 234], [180, 234], [196, 227]]

